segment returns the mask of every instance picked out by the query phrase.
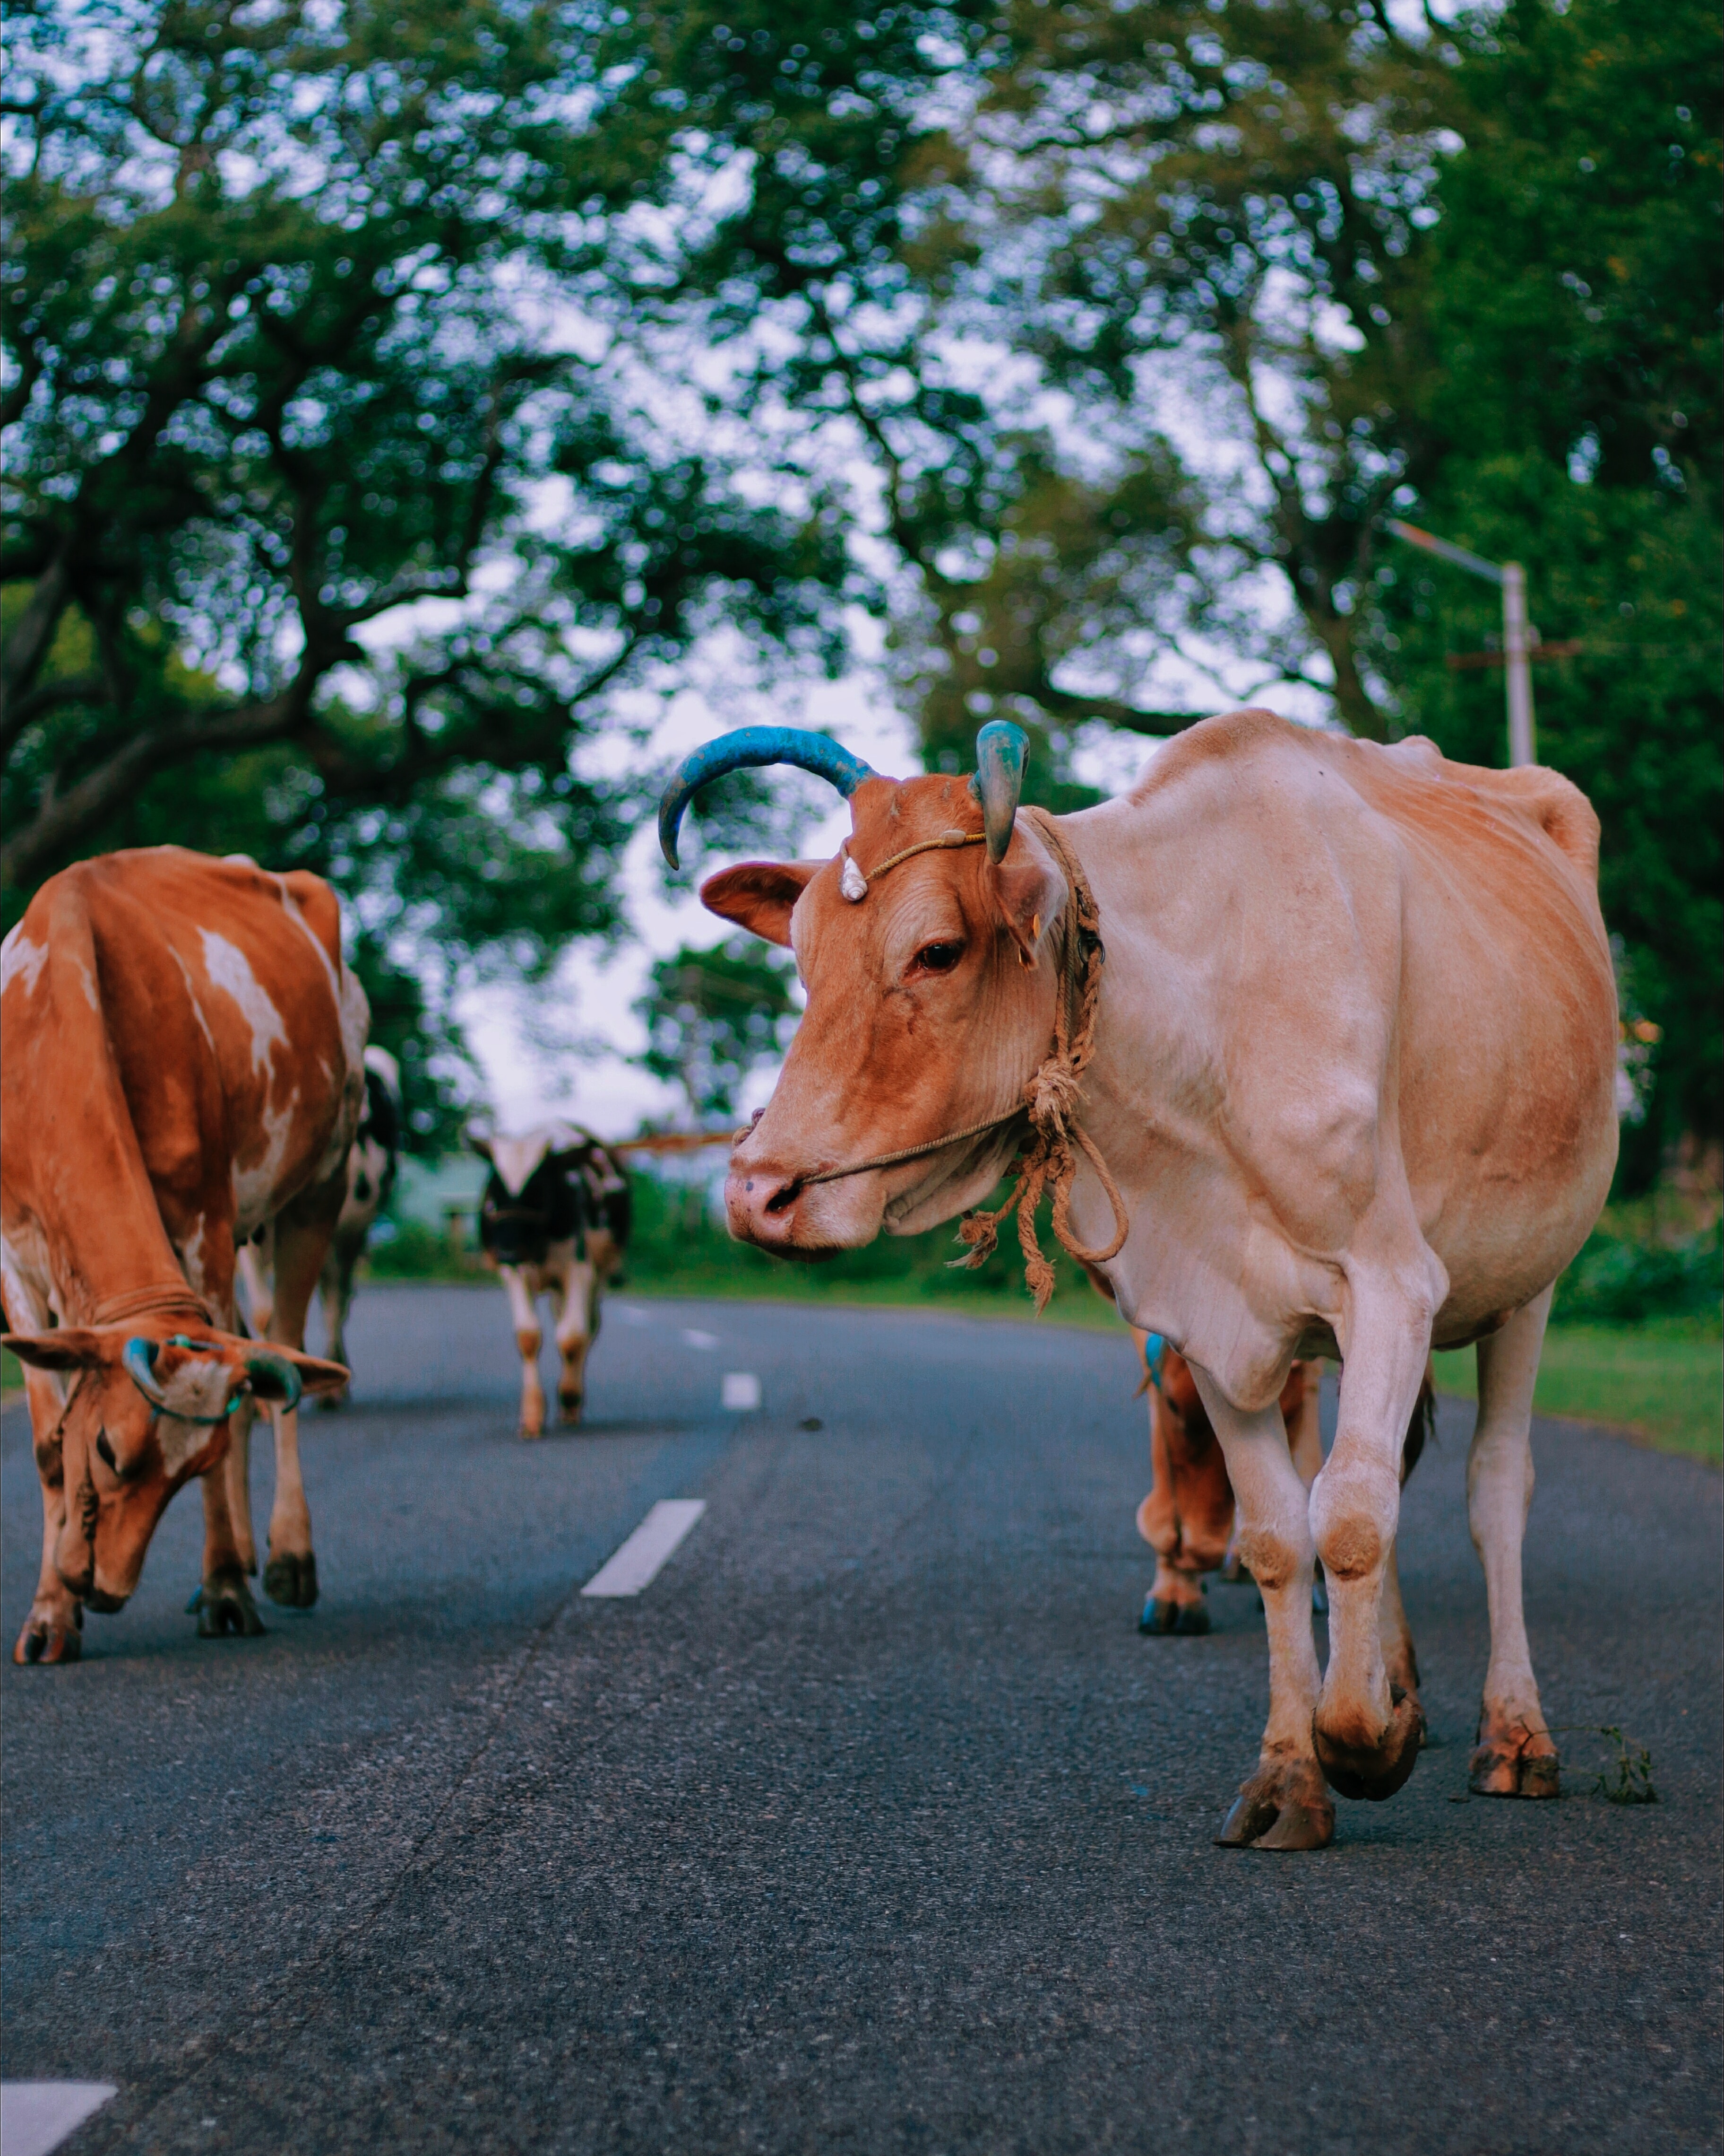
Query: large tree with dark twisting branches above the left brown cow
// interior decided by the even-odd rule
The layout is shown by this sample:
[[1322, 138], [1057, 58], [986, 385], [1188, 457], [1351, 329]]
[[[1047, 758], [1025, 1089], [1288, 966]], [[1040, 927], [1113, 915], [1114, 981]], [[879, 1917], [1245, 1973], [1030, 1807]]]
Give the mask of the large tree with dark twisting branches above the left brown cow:
[[608, 99], [612, 11], [95, 0], [9, 39], [9, 912], [183, 837], [336, 873], [373, 938], [614, 929], [618, 694], [720, 621], [834, 662], [849, 571], [625, 336], [664, 144]]

